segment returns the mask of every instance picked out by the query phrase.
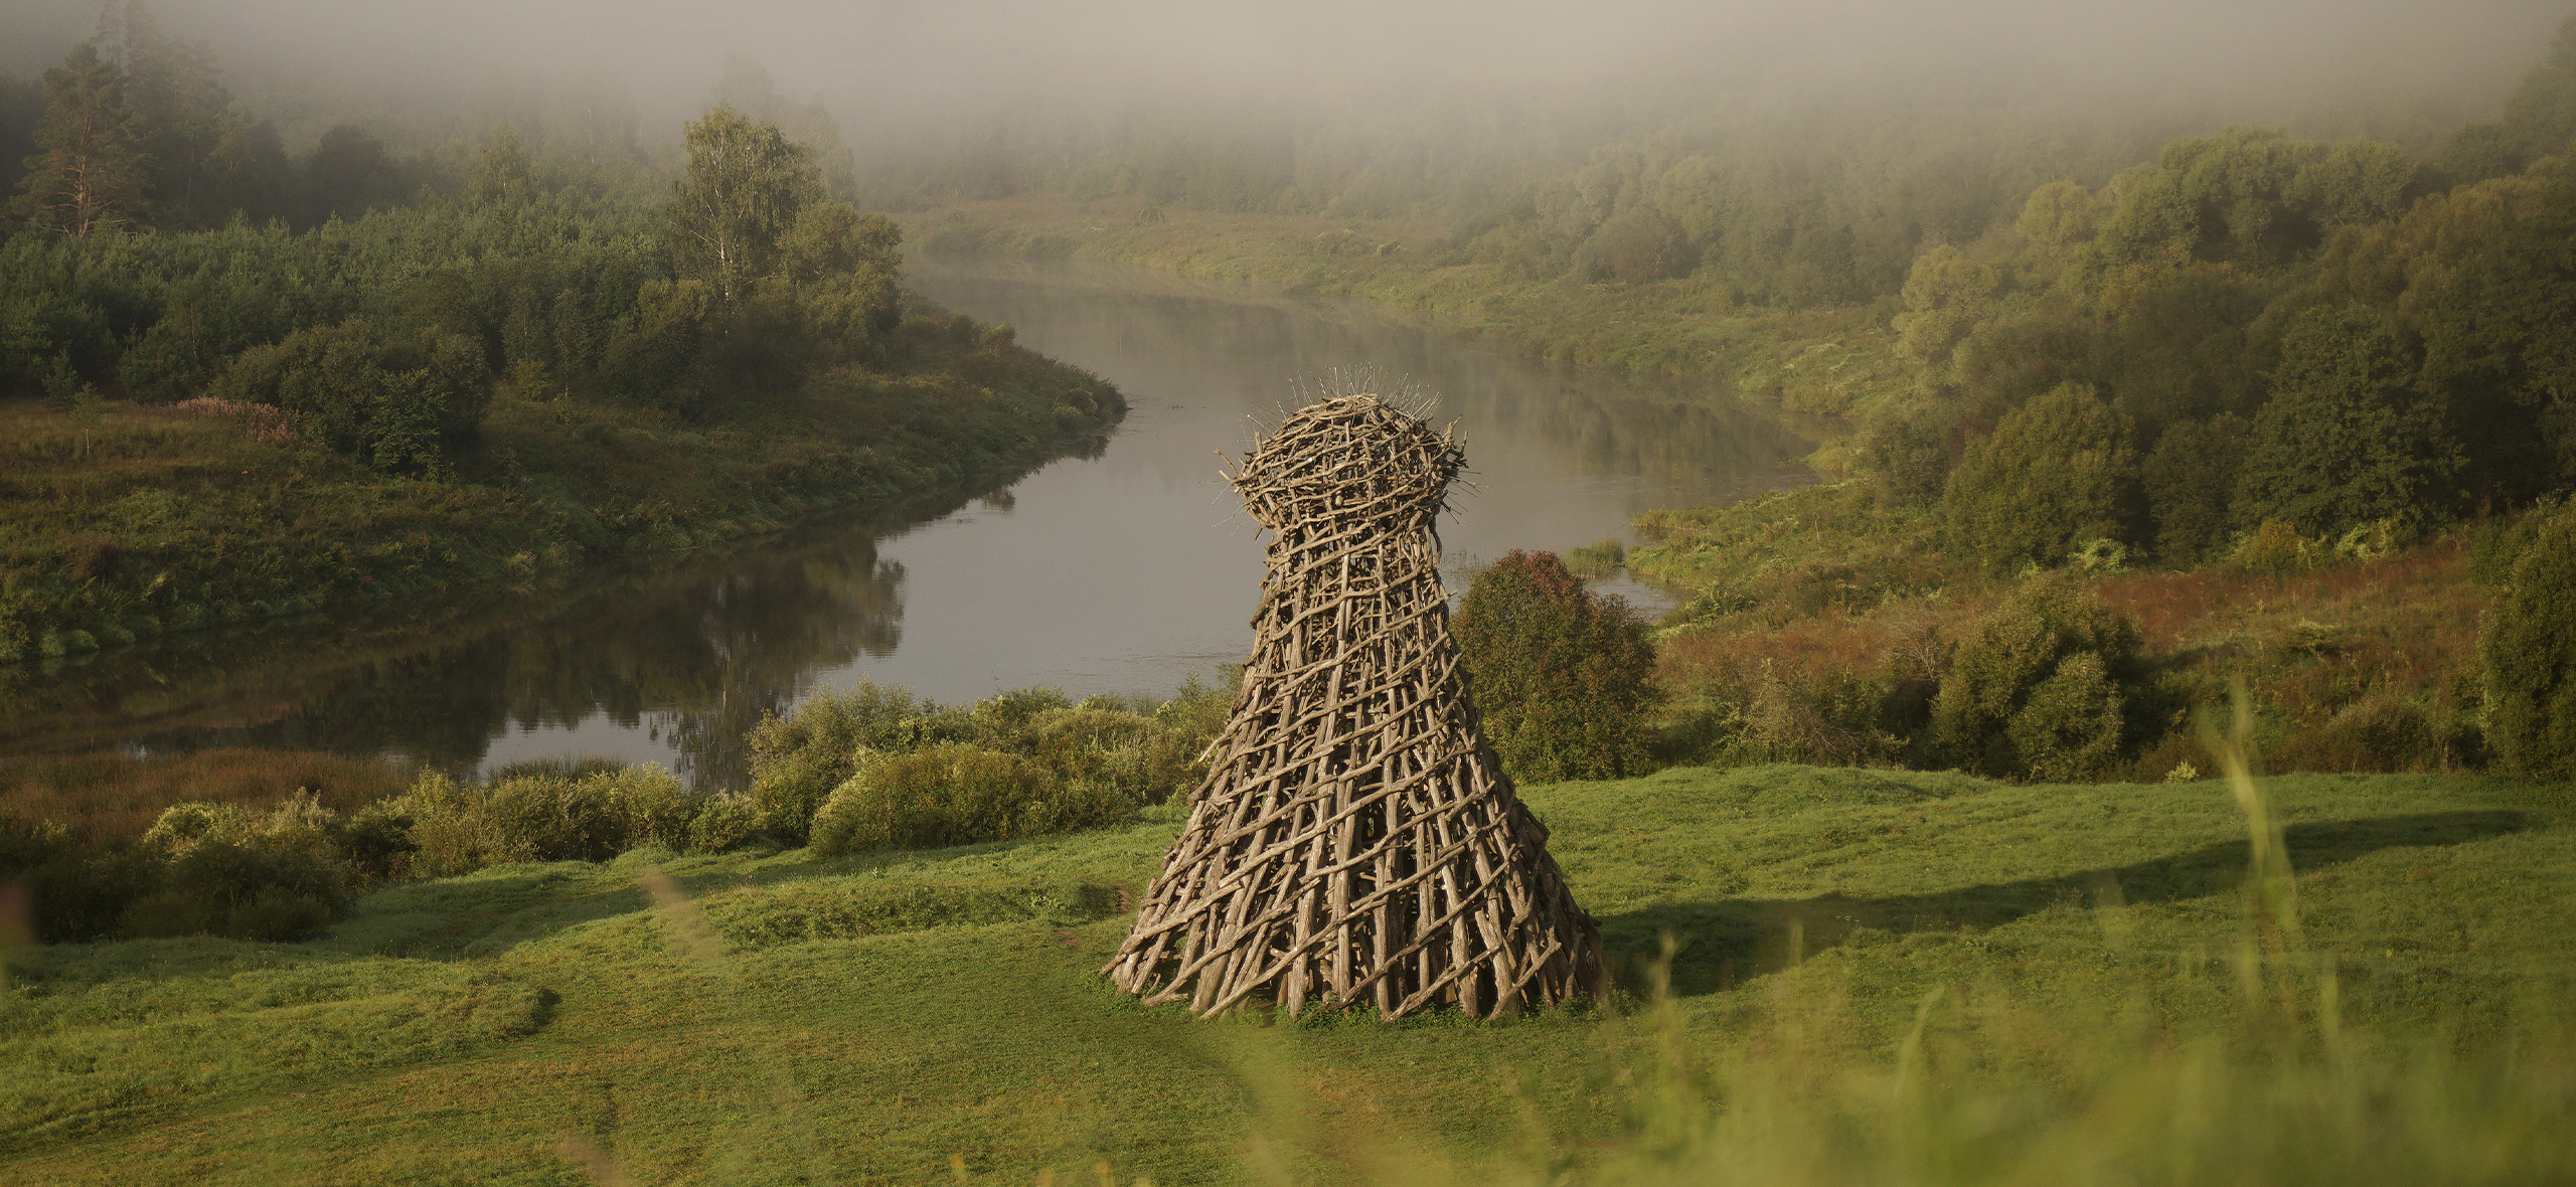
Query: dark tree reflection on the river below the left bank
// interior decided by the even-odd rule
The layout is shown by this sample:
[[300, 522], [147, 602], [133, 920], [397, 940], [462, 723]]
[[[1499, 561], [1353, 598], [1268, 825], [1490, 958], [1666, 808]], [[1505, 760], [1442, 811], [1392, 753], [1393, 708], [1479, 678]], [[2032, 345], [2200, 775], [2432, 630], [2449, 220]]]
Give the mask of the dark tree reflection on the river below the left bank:
[[23, 667], [0, 685], [0, 752], [289, 747], [471, 767], [510, 726], [605, 718], [677, 749], [693, 783], [739, 785], [762, 713], [902, 639], [904, 569], [878, 559], [881, 530], [809, 530], [428, 623], [289, 621]]

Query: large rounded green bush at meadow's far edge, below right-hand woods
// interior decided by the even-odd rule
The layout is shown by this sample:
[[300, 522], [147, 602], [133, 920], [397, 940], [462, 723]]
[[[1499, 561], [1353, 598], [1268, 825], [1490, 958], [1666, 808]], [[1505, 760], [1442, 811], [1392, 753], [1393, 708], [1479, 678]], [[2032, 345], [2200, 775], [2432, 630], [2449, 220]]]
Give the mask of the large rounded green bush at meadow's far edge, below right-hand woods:
[[1976, 621], [1932, 700], [1932, 744], [1960, 767], [2087, 778], [2120, 752], [2138, 628], [2092, 592], [2038, 579]]

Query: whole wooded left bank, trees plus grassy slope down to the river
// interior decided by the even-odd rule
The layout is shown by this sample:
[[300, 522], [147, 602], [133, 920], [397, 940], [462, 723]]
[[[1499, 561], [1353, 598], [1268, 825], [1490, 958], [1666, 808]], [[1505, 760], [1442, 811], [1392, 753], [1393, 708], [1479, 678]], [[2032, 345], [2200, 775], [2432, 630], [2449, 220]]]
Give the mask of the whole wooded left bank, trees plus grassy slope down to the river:
[[896, 227], [726, 103], [670, 180], [510, 124], [289, 157], [139, 3], [0, 90], [0, 662], [884, 510], [1123, 409], [907, 306]]

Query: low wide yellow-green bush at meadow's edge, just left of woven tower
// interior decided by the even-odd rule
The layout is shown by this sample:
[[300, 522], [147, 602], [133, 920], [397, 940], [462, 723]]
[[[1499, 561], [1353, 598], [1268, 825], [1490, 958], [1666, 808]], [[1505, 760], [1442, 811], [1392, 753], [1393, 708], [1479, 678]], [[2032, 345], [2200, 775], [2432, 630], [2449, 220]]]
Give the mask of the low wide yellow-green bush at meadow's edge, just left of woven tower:
[[1128, 819], [1136, 801], [1105, 783], [1061, 780], [1020, 754], [945, 742], [866, 754], [814, 816], [814, 852], [974, 845]]

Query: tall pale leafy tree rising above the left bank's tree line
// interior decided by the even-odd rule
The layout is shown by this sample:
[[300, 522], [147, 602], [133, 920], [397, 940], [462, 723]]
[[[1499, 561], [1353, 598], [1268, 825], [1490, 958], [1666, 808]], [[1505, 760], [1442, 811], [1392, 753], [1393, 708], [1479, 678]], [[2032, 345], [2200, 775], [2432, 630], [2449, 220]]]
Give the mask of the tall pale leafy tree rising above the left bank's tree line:
[[719, 103], [688, 126], [688, 178], [670, 201], [672, 257], [734, 304], [778, 273], [781, 239], [817, 198], [822, 180], [804, 144]]

